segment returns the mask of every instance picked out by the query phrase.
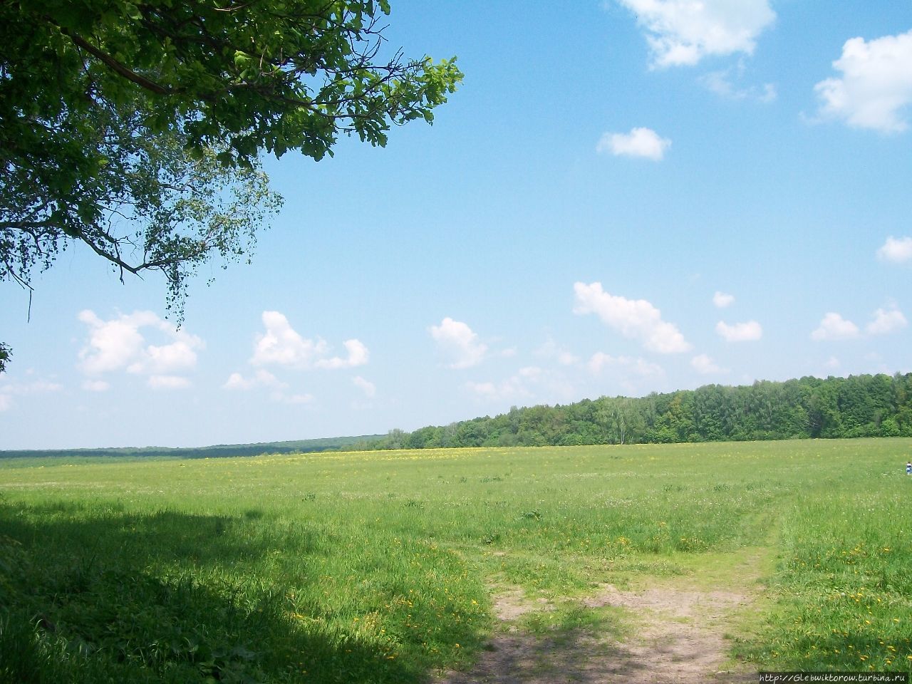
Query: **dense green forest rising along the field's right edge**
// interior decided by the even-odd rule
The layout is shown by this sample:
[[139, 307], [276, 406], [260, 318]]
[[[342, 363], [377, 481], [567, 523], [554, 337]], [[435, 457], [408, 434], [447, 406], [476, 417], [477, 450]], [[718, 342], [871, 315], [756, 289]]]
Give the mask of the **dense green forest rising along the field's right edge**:
[[390, 430], [359, 449], [912, 437], [912, 373], [707, 385], [648, 397], [513, 407], [494, 418]]

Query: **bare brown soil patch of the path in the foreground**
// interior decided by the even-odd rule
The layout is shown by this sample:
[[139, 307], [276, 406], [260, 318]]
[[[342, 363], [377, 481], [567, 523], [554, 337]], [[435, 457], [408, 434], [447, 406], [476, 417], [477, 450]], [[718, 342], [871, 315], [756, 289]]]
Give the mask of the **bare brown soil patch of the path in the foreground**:
[[702, 684], [754, 682], [756, 674], [725, 671], [722, 637], [734, 611], [750, 604], [729, 591], [650, 587], [620, 591], [605, 585], [583, 605], [621, 606], [630, 613], [633, 637], [621, 643], [585, 632], [535, 637], [511, 626], [517, 617], [547, 609], [516, 589], [498, 596], [497, 616], [506, 627], [495, 634], [471, 672], [449, 672], [439, 684]]

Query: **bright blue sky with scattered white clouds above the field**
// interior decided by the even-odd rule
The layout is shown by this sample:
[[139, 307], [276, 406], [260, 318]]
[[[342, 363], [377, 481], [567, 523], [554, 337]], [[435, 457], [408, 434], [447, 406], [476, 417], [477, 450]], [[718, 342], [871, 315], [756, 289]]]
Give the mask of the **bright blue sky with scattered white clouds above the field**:
[[283, 212], [180, 331], [77, 247], [30, 320], [0, 288], [0, 449], [912, 371], [912, 4], [394, 0], [386, 36], [461, 88], [385, 149], [266, 160]]

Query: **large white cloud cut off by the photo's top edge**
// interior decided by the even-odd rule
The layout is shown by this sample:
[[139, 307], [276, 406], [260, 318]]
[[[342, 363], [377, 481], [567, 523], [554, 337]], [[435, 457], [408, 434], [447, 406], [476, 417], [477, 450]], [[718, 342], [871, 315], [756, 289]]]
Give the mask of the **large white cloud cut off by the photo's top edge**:
[[647, 32], [653, 66], [692, 66], [708, 56], [751, 55], [776, 18], [767, 0], [618, 0]]

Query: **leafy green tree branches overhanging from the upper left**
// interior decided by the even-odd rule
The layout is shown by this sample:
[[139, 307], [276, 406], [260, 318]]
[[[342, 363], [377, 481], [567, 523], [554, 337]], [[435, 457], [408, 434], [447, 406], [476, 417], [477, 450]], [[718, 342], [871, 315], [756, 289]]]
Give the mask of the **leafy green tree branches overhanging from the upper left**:
[[462, 74], [404, 59], [386, 0], [0, 3], [0, 279], [67, 244], [164, 272], [171, 304], [212, 256], [249, 254], [281, 202], [258, 160], [385, 145]]

